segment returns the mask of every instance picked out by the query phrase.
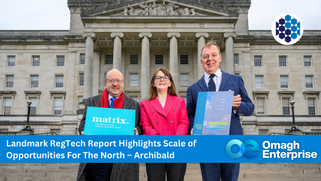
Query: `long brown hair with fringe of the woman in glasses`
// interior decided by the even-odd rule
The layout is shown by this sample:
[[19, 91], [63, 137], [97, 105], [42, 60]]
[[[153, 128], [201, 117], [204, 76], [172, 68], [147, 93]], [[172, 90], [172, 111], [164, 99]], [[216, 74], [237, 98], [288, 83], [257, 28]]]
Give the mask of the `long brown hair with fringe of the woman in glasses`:
[[172, 75], [169, 73], [169, 71], [166, 68], [159, 67], [154, 71], [154, 74], [152, 76], [151, 84], [149, 85], [149, 91], [148, 91], [149, 97], [146, 100], [153, 100], [157, 96], [157, 90], [156, 90], [156, 87], [153, 86], [153, 84], [155, 81], [155, 76], [157, 75], [158, 71], [162, 71], [165, 75], [169, 76], [169, 81], [172, 85], [167, 89], [167, 92], [169, 93], [169, 95], [177, 97], [176, 87], [175, 87]]

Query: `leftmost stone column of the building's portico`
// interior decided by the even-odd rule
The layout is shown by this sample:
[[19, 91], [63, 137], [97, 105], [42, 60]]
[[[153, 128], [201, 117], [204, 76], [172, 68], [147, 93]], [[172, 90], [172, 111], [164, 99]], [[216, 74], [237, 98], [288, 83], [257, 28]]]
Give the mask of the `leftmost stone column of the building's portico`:
[[83, 85], [83, 99], [92, 97], [92, 71], [94, 66], [94, 38], [95, 33], [83, 33], [82, 36], [86, 38], [86, 54], [85, 54], [85, 72]]

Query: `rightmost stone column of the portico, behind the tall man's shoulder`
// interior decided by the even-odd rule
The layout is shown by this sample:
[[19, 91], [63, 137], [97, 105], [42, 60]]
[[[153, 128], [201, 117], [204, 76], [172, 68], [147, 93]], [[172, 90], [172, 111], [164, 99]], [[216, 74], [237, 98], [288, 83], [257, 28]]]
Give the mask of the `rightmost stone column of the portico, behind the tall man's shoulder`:
[[234, 43], [233, 38], [236, 37], [235, 33], [224, 33], [225, 39], [225, 71], [231, 74], [235, 74], [234, 67]]

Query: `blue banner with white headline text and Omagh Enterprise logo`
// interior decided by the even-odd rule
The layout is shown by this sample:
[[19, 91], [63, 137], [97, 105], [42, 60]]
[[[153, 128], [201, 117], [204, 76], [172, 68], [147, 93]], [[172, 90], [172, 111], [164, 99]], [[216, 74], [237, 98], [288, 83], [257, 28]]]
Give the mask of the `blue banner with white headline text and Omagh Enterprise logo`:
[[321, 163], [320, 135], [1, 136], [1, 163]]

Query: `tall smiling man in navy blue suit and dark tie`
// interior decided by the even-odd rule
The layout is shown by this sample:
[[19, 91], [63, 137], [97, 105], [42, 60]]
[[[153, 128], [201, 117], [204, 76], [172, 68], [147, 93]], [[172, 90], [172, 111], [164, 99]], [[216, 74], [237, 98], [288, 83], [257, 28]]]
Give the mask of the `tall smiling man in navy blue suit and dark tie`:
[[[201, 63], [205, 70], [203, 77], [187, 89], [188, 130], [193, 134], [198, 92], [234, 91], [231, 110], [230, 135], [243, 135], [239, 116], [251, 116], [254, 104], [247, 95], [241, 76], [221, 71], [220, 47], [216, 42], [207, 43], [201, 53]], [[239, 163], [200, 163], [203, 181], [237, 181]]]

